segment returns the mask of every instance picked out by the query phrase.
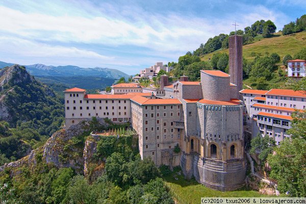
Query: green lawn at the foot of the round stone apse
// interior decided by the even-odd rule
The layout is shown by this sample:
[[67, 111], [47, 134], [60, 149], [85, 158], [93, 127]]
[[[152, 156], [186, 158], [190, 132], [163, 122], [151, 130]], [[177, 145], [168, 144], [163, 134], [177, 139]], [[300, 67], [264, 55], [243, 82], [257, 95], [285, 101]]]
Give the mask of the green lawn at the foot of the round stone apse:
[[[187, 181], [183, 175], [177, 175], [179, 170], [174, 171], [169, 176], [164, 176], [166, 185], [179, 204], [200, 203], [201, 197], [268, 197], [258, 191], [242, 188], [236, 191], [216, 191], [209, 189], [194, 179]], [[175, 180], [177, 177], [178, 180]]]

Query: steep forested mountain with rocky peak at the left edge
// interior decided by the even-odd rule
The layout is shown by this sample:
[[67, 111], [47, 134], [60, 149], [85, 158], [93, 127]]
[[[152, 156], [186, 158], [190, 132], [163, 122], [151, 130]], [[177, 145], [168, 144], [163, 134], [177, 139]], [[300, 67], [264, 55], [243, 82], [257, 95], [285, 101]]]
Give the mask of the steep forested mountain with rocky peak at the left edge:
[[0, 165], [43, 145], [63, 121], [63, 98], [22, 66], [0, 69]]

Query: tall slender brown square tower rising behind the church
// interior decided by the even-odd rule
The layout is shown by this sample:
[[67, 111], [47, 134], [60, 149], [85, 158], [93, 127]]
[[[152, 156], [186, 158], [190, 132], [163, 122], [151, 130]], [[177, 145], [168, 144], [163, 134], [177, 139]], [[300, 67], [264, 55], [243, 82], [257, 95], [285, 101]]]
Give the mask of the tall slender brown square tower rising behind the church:
[[242, 90], [242, 36], [233, 35], [228, 38], [229, 68], [231, 83], [237, 85], [237, 98]]

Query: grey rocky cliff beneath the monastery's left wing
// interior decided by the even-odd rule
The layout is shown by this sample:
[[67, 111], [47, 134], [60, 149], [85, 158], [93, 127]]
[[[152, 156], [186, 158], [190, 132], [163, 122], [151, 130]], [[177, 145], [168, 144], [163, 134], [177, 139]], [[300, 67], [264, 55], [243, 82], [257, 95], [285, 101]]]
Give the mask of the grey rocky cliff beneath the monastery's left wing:
[[[32, 150], [30, 155], [16, 162], [5, 164], [0, 171], [9, 170], [14, 176], [20, 173], [20, 167], [34, 169], [37, 160], [42, 160], [57, 168], [71, 167], [76, 173], [84, 174], [89, 181], [94, 181], [103, 174], [105, 160], [94, 158], [99, 137], [88, 136], [90, 121], [85, 120], [68, 130], [57, 131], [42, 147]], [[103, 119], [98, 119], [98, 123], [106, 125]], [[80, 141], [83, 136], [88, 136], [85, 142]]]

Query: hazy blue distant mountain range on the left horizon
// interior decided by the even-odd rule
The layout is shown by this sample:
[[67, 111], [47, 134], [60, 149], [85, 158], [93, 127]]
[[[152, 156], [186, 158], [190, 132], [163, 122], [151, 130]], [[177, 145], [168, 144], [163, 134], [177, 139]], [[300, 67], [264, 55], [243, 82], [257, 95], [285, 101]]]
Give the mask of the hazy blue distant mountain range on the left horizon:
[[[13, 63], [0, 61], [0, 68], [12, 66]], [[94, 67], [82, 68], [78, 66], [47, 66], [44, 64], [24, 65], [27, 71], [38, 77], [103, 77], [109, 79], [120, 79], [121, 77], [128, 78], [129, 75], [117, 69]]]

